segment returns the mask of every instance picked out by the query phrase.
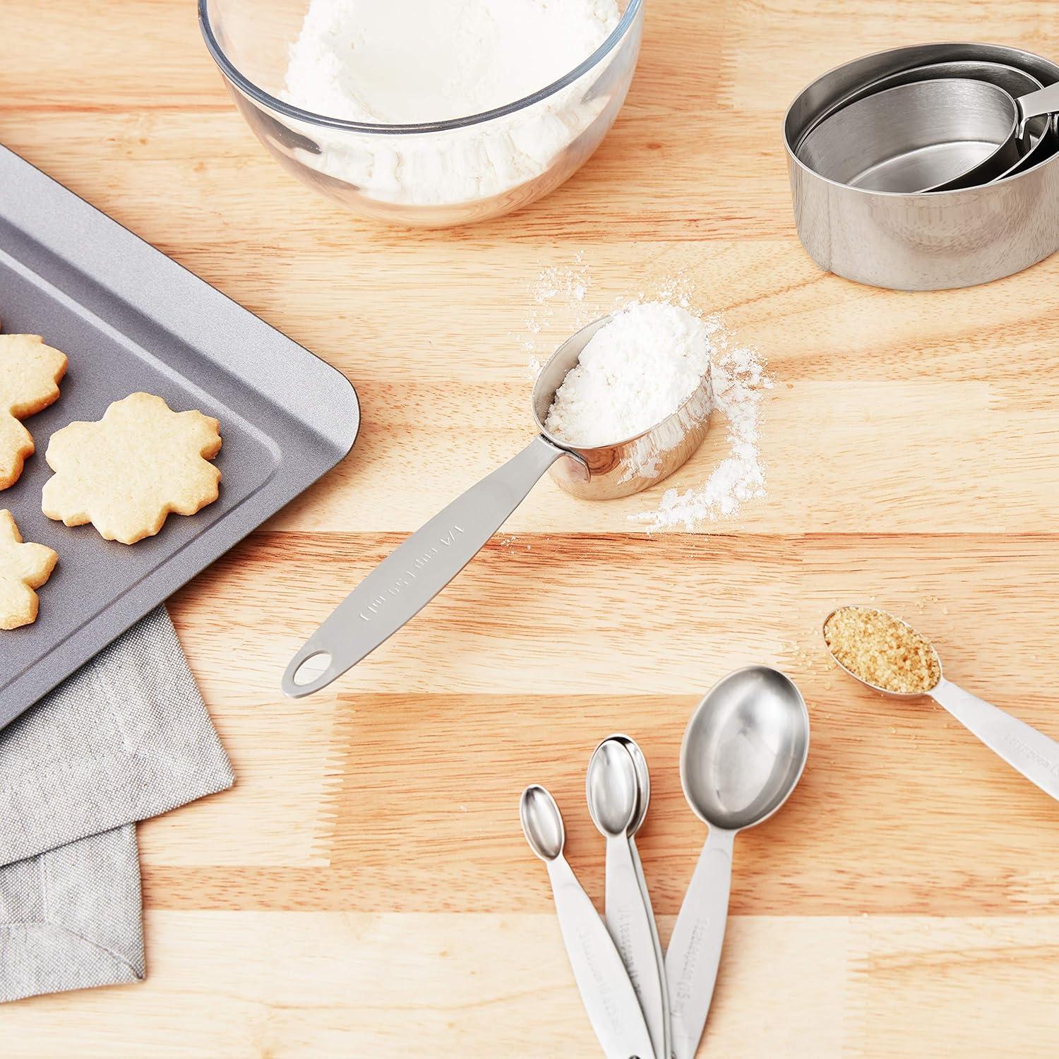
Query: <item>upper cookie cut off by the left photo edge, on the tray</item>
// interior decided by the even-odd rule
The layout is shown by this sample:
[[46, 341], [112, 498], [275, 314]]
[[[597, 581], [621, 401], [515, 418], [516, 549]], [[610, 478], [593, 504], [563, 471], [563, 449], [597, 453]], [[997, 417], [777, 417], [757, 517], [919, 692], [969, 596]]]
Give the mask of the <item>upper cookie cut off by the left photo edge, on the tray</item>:
[[18, 481], [33, 436], [19, 423], [59, 396], [66, 356], [39, 335], [0, 335], [0, 489]]

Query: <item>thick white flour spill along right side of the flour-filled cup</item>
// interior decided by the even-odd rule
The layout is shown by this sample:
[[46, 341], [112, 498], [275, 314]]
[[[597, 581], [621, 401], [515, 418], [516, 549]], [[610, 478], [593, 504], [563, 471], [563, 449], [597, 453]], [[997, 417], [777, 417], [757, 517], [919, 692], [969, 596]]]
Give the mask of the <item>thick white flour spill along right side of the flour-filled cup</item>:
[[773, 383], [754, 349], [731, 348], [722, 329], [714, 342], [714, 412], [721, 412], [728, 420], [728, 454], [702, 485], [683, 492], [666, 489], [656, 510], [633, 516], [648, 531], [694, 530], [733, 516], [748, 500], [765, 496], [765, 466], [758, 448], [760, 406], [762, 392]]

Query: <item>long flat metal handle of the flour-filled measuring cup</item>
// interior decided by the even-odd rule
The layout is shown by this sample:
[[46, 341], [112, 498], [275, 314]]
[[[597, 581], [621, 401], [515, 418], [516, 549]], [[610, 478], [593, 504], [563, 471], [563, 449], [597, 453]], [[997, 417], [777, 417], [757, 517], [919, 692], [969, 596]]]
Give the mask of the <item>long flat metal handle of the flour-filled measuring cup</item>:
[[[541, 474], [567, 454], [536, 437], [394, 549], [291, 659], [284, 693], [298, 699], [319, 692], [389, 640], [470, 562]], [[305, 662], [319, 657], [323, 663], [323, 656], [329, 658], [319, 676], [295, 680]]]

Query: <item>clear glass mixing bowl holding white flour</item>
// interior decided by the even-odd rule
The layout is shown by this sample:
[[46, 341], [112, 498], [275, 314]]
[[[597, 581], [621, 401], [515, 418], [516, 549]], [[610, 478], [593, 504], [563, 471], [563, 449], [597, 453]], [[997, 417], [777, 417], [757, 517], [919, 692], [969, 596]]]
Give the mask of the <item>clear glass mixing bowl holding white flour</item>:
[[525, 98], [451, 121], [372, 125], [285, 102], [308, 6], [199, 0], [199, 24], [239, 112], [285, 169], [357, 213], [426, 228], [510, 213], [580, 168], [625, 102], [644, 10], [643, 0], [620, 0], [622, 18], [596, 51]]

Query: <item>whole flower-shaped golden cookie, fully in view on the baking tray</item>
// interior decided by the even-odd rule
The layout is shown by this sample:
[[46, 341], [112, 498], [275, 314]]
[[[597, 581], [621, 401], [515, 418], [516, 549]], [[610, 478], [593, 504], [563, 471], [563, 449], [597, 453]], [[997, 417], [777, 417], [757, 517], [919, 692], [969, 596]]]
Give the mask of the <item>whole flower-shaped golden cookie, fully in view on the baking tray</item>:
[[174, 412], [161, 397], [131, 394], [95, 423], [52, 434], [44, 459], [42, 509], [68, 526], [86, 522], [106, 540], [151, 537], [169, 511], [194, 515], [218, 496], [219, 424], [201, 412]]

